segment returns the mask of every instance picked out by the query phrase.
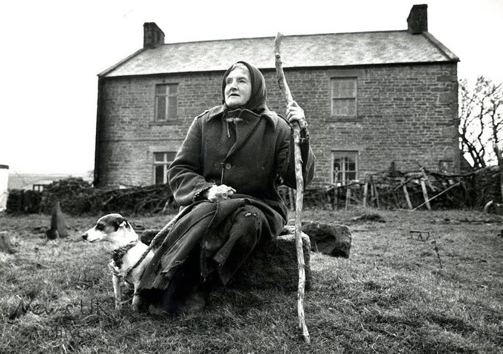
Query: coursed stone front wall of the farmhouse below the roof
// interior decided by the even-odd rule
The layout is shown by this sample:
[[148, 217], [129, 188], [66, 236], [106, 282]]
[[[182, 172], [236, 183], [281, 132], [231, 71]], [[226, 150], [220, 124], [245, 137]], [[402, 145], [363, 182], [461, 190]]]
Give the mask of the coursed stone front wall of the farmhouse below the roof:
[[[284, 114], [274, 70], [263, 70], [268, 106]], [[96, 176], [99, 186], [153, 183], [153, 153], [177, 151], [193, 118], [221, 103], [223, 73], [101, 79]], [[459, 171], [456, 63], [286, 69], [304, 109], [316, 155], [315, 181], [330, 183], [332, 151], [358, 152], [358, 178], [394, 162]], [[332, 77], [356, 77], [358, 117], [331, 117]], [[178, 83], [178, 121], [154, 122], [156, 84]]]

